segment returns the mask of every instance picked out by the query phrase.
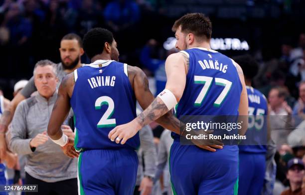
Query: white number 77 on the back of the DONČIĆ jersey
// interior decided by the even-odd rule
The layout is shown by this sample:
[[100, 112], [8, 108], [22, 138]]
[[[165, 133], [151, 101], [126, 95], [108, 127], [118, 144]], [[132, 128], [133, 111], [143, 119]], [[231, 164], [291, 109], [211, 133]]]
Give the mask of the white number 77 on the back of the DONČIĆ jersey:
[[[197, 99], [195, 100], [194, 106], [198, 107], [201, 106], [207, 92], [209, 91], [211, 84], [213, 81], [213, 77], [209, 77], [209, 76], [194, 76], [194, 82], [195, 84], [203, 84], [203, 88], [200, 91]], [[222, 92], [219, 94], [219, 96], [217, 97], [217, 99], [215, 100], [213, 106], [215, 107], [219, 107], [223, 100], [225, 99], [225, 97], [227, 97], [231, 86], [232, 86], [232, 82], [228, 81], [226, 79], [223, 78], [215, 78], [215, 84], [216, 85], [220, 85], [220, 86], [224, 86], [224, 89], [222, 90]]]

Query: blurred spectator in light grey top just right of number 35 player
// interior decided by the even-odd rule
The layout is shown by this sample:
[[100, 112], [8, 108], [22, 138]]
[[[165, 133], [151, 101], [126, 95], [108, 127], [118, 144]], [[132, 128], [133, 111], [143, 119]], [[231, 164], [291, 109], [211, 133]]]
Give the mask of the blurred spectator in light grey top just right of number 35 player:
[[288, 92], [283, 87], [272, 88], [268, 96], [272, 127], [271, 138], [277, 146], [286, 143], [287, 136], [291, 132], [288, 128], [292, 128], [292, 109], [285, 101], [287, 96]]

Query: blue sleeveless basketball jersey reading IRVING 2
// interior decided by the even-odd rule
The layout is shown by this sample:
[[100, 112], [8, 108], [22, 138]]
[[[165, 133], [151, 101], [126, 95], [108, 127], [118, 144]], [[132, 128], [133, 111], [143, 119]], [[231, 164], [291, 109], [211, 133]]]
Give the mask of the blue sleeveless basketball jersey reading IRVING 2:
[[139, 133], [126, 144], [108, 138], [116, 126], [136, 118], [136, 98], [127, 64], [97, 60], [74, 71], [75, 85], [70, 100], [75, 122], [75, 149], [137, 149]]

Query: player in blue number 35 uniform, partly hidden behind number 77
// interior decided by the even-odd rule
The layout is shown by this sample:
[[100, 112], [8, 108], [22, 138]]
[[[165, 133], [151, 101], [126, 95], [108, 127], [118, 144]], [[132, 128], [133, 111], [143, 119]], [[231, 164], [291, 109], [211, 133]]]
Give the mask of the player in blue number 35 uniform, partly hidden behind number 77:
[[[246, 135], [251, 134], [255, 143], [239, 145], [238, 195], [260, 195], [266, 170], [268, 103], [266, 97], [251, 87], [258, 72], [258, 64], [250, 55], [237, 56], [234, 60], [242, 67], [249, 101], [249, 124]], [[262, 116], [263, 115], [263, 116]], [[248, 137], [249, 138], [249, 137]]]

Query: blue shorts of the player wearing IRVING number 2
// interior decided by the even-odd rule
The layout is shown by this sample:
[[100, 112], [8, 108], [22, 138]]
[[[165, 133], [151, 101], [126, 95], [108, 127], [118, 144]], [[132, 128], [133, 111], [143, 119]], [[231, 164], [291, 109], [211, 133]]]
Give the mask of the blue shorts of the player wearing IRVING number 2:
[[133, 195], [138, 155], [134, 150], [88, 150], [78, 158], [79, 195]]

